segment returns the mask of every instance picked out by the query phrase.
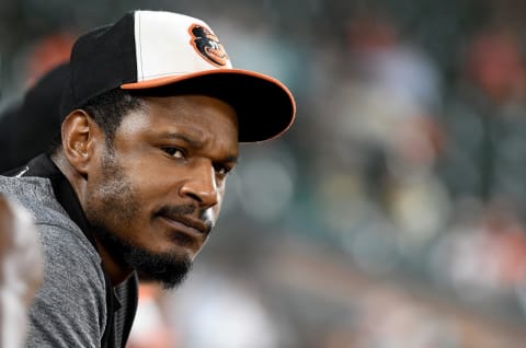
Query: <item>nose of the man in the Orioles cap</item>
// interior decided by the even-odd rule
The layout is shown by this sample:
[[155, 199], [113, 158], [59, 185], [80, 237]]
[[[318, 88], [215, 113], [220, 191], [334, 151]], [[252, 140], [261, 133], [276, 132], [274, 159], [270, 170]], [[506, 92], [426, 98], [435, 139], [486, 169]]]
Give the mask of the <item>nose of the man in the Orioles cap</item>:
[[209, 163], [193, 165], [188, 178], [181, 186], [181, 195], [196, 200], [203, 208], [217, 205], [219, 193], [213, 165]]

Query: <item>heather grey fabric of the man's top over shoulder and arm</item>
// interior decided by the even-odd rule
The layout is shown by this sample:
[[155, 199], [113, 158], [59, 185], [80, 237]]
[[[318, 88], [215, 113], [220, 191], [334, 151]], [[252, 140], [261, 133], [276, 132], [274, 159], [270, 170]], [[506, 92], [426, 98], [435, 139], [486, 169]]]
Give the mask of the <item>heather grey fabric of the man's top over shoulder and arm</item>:
[[106, 292], [99, 254], [57, 202], [47, 178], [0, 176], [41, 232], [44, 281], [30, 309], [27, 347], [100, 347]]

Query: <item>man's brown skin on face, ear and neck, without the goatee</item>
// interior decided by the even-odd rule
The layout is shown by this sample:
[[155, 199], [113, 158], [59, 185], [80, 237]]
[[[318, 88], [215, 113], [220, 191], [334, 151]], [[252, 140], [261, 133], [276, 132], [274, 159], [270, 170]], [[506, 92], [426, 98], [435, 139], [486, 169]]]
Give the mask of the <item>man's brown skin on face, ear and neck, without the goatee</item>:
[[[215, 225], [228, 173], [238, 159], [238, 120], [204, 95], [145, 96], [114, 139], [83, 109], [61, 127], [53, 161], [71, 183], [92, 229], [152, 255], [191, 263]], [[133, 271], [94, 233], [113, 285]], [[148, 276], [148, 275], [147, 275]]]

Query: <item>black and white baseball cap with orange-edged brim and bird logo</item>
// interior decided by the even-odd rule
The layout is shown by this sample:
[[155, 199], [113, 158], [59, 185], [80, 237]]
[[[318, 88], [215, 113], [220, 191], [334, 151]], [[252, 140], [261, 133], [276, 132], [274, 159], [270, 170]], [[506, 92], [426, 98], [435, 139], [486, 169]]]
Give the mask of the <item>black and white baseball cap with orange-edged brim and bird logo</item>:
[[202, 20], [168, 11], [136, 10], [81, 35], [73, 44], [60, 114], [66, 117], [113, 89], [176, 85], [216, 96], [238, 114], [239, 141], [276, 138], [294, 121], [296, 103], [277, 79], [235, 69]]

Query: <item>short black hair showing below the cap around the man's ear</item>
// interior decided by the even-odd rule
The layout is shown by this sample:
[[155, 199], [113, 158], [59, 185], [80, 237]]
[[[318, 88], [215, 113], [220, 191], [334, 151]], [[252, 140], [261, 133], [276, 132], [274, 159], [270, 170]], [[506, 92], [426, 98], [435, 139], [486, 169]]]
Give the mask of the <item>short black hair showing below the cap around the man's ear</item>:
[[[123, 117], [142, 105], [141, 98], [136, 93], [117, 88], [95, 96], [79, 108], [85, 111], [101, 127], [106, 146], [113, 148], [113, 139]], [[60, 146], [61, 136], [58, 134], [52, 142], [50, 153], [55, 153]]]

